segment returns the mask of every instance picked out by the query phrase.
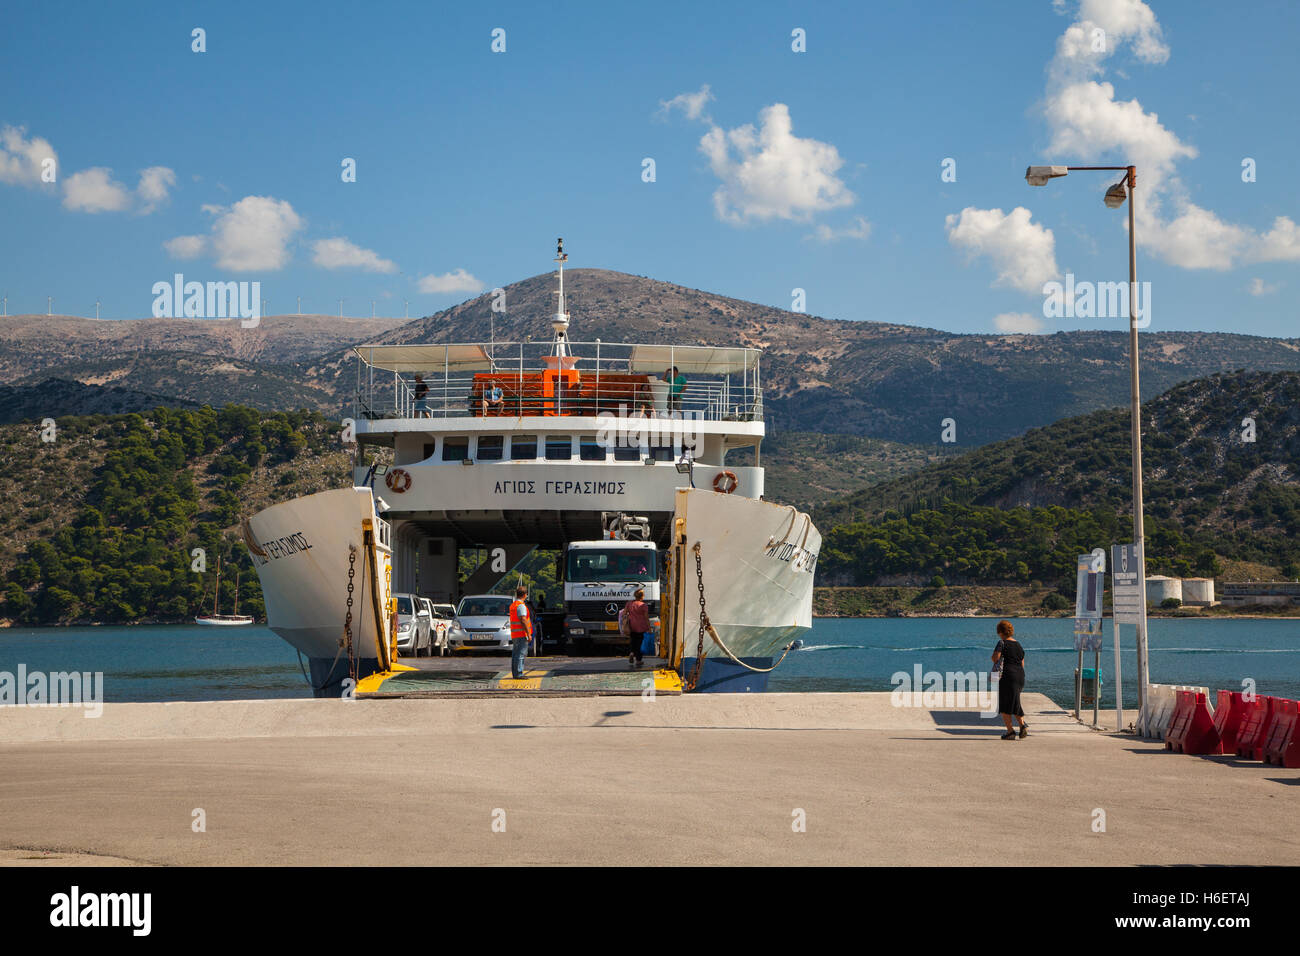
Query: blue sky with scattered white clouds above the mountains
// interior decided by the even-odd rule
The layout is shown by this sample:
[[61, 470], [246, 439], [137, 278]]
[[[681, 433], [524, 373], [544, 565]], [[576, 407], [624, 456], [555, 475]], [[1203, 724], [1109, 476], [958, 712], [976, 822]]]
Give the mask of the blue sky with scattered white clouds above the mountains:
[[781, 308], [800, 287], [836, 319], [1121, 329], [1044, 319], [1041, 293], [1126, 278], [1113, 179], [1023, 173], [1128, 156], [1152, 330], [1300, 334], [1294, 4], [21, 4], [5, 21], [9, 313], [53, 295], [138, 317], [183, 272], [257, 280], [270, 312], [302, 295], [415, 316], [547, 271], [564, 235], [575, 267]]

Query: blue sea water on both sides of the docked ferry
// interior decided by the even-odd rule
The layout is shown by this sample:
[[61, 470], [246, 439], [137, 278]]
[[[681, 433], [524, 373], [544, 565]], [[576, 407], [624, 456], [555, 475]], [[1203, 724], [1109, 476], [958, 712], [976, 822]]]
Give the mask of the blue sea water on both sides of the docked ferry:
[[[996, 620], [822, 618], [768, 682], [771, 691], [892, 691], [890, 678], [989, 670]], [[1074, 622], [1014, 620], [1024, 689], [1074, 706]], [[1113, 708], [1114, 648], [1106, 622], [1102, 708]], [[1162, 684], [1300, 697], [1300, 620], [1161, 618], [1149, 622], [1150, 679]], [[298, 653], [265, 627], [44, 627], [0, 631], [0, 671], [101, 671], [108, 701], [309, 697]], [[504, 667], [504, 658], [502, 666]], [[1084, 652], [1084, 666], [1092, 653]], [[1121, 631], [1124, 706], [1136, 704], [1134, 628]]]

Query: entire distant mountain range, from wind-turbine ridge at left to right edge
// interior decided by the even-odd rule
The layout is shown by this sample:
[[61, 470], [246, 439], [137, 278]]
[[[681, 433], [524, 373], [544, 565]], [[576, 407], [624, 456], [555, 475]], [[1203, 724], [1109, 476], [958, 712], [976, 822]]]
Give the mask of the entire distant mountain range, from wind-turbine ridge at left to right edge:
[[[493, 313], [497, 297], [485, 293], [400, 324], [274, 316], [243, 330], [237, 321], [192, 319], [68, 319], [46, 328], [46, 316], [16, 326], [0, 320], [0, 381], [60, 375], [188, 401], [302, 405], [342, 416], [356, 375], [350, 345], [474, 342], [490, 334], [547, 341], [554, 289], [547, 272], [506, 286], [503, 313]], [[901, 321], [823, 319], [606, 269], [568, 269], [564, 289], [575, 341], [763, 349], [774, 431], [855, 434], [939, 454], [950, 450], [940, 442], [944, 419], [956, 421], [956, 445], [971, 447], [1128, 401], [1127, 330], [958, 336]], [[66, 341], [51, 334], [65, 328], [73, 333]], [[1295, 338], [1200, 332], [1140, 338], [1148, 397], [1216, 372], [1300, 369]], [[165, 363], [140, 360], [157, 350], [204, 358], [191, 359], [194, 375], [169, 376]]]

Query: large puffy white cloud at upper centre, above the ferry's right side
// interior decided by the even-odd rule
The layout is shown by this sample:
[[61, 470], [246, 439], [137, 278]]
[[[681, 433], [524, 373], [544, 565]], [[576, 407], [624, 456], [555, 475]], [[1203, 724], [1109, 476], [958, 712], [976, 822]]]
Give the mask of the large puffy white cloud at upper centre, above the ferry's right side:
[[727, 222], [807, 220], [814, 212], [852, 206], [855, 200], [836, 176], [840, 151], [793, 134], [790, 111], [774, 103], [759, 112], [759, 129], [714, 126], [699, 140], [722, 186], [714, 211]]

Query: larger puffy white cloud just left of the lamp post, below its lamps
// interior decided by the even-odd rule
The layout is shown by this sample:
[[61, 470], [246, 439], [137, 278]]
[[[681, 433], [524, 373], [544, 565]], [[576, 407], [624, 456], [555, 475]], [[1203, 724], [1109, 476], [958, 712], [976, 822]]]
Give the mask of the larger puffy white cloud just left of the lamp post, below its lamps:
[[970, 258], [988, 256], [997, 269], [994, 285], [1037, 294], [1061, 269], [1052, 230], [1030, 220], [1031, 213], [1023, 206], [1008, 213], [967, 206], [959, 216], [948, 216], [948, 242]]

